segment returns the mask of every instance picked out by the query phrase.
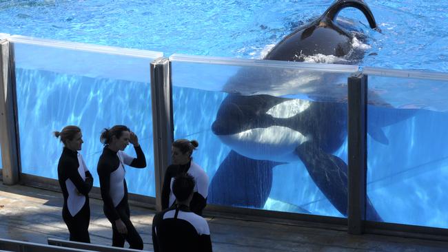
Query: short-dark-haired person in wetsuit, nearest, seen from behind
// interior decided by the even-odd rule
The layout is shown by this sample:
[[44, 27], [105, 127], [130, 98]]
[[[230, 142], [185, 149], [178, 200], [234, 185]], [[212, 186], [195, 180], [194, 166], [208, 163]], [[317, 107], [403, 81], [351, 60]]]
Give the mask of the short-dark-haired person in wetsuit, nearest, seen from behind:
[[154, 252], [212, 251], [207, 221], [189, 209], [194, 197], [194, 178], [181, 173], [172, 182], [175, 204], [152, 220]]

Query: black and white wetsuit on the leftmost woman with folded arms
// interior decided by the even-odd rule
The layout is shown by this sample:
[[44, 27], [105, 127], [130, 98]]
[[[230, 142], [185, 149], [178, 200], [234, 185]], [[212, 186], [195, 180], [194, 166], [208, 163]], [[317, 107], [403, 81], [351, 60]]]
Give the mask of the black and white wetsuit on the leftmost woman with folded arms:
[[[86, 181], [85, 178], [91, 179]], [[93, 178], [81, 154], [63, 148], [58, 164], [58, 180], [64, 198], [62, 218], [70, 232], [70, 240], [90, 243], [88, 193], [92, 189]]]

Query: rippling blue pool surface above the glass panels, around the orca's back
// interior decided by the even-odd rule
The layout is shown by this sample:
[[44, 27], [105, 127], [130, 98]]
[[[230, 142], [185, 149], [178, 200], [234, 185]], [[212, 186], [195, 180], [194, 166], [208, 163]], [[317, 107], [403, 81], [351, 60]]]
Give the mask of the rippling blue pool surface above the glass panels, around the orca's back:
[[[366, 1], [382, 34], [358, 10], [371, 37], [363, 65], [448, 71], [448, 3]], [[319, 16], [321, 1], [1, 1], [0, 32], [172, 53], [258, 58], [267, 45]], [[358, 23], [360, 21], [360, 23]], [[411, 55], [411, 56], [409, 56]]]

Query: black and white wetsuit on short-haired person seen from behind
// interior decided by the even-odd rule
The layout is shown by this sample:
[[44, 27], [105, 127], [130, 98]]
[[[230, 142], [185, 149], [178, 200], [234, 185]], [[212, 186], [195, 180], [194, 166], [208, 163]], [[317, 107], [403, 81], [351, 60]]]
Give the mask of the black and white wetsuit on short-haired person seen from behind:
[[174, 204], [152, 220], [154, 252], [212, 251], [207, 221], [185, 205]]

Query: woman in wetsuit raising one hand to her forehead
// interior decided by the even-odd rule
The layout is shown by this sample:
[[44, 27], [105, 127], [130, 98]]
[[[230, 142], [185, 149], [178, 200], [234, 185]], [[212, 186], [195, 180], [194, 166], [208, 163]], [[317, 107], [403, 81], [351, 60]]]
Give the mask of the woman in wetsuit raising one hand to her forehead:
[[[103, 211], [112, 223], [112, 246], [123, 248], [125, 240], [130, 249], [143, 249], [143, 240], [130, 221], [128, 186], [125, 167], [146, 167], [145, 154], [139, 145], [139, 138], [124, 125], [104, 129], [100, 136], [104, 149], [98, 160], [99, 184], [103, 198]], [[132, 143], [137, 157], [125, 154], [124, 149]]]

